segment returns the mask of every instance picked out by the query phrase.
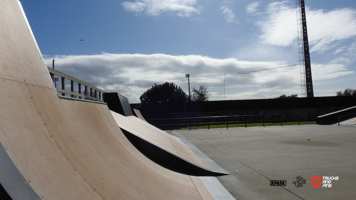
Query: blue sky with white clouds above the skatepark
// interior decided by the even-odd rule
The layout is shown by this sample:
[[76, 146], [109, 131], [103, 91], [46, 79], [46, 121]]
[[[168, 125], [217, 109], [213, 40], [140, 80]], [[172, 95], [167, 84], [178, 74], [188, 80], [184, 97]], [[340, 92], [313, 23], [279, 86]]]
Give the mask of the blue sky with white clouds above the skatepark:
[[[56, 69], [89, 83], [227, 74], [224, 99], [301, 96], [298, 65], [230, 74], [299, 64], [295, 0], [21, 4], [47, 65], [55, 59]], [[305, 5], [314, 95], [356, 89], [356, 2]], [[209, 79], [204, 83], [213, 88]], [[150, 88], [132, 86], [140, 88], [133, 95], [128, 87], [117, 92], [130, 102]]]

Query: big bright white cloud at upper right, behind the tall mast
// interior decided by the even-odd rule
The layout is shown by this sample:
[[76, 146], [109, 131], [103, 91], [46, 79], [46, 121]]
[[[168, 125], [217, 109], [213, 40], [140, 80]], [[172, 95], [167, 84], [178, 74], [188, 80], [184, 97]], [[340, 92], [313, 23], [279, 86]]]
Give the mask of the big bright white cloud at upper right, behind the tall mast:
[[[355, 9], [325, 11], [306, 7], [305, 12], [311, 52], [323, 52], [335, 47], [338, 41], [356, 36]], [[260, 36], [262, 42], [277, 46], [296, 44], [297, 20], [294, 6], [287, 5], [287, 1], [273, 2], [267, 6], [263, 17], [263, 20], [256, 23], [263, 32]]]

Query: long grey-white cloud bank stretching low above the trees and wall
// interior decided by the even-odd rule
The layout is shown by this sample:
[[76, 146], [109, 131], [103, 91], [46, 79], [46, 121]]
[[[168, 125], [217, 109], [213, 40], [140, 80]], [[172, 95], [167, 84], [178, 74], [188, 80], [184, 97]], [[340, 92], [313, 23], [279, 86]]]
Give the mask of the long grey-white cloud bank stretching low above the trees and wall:
[[[129, 98], [130, 102], [138, 102], [138, 97], [154, 83], [161, 84], [165, 81], [174, 82], [187, 92], [187, 79], [184, 78], [187, 73], [191, 76], [190, 86], [201, 83], [209, 86], [209, 91], [214, 94], [211, 100], [225, 99], [224, 85], [226, 90], [231, 91], [226, 93], [226, 100], [247, 97], [272, 98], [281, 95], [280, 93], [289, 95], [292, 91], [293, 94], [294, 91], [300, 91], [298, 65], [247, 74], [236, 73], [287, 65], [283, 61], [250, 62], [235, 58], [216, 59], [199, 55], [102, 53], [46, 57], [45, 62], [48, 66], [52, 65], [52, 59], [56, 60], [57, 70], [88, 83], [105, 83], [97, 86], [105, 91], [119, 92]], [[316, 81], [352, 73], [355, 72], [347, 71], [344, 65], [313, 64], [313, 79]], [[122, 81], [135, 82], [117, 83]]]

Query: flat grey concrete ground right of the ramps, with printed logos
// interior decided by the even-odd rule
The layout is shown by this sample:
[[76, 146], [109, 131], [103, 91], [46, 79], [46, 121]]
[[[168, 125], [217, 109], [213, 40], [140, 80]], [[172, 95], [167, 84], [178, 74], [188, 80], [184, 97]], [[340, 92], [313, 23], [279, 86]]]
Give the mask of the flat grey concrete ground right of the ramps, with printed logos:
[[[218, 180], [240, 199], [355, 199], [356, 127], [290, 125], [172, 131], [230, 175]], [[297, 177], [305, 184], [297, 186]], [[312, 177], [339, 177], [325, 188]], [[270, 186], [286, 180], [286, 186]], [[293, 183], [294, 182], [294, 183]], [[303, 182], [303, 181], [302, 181]]]

